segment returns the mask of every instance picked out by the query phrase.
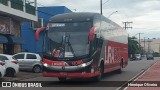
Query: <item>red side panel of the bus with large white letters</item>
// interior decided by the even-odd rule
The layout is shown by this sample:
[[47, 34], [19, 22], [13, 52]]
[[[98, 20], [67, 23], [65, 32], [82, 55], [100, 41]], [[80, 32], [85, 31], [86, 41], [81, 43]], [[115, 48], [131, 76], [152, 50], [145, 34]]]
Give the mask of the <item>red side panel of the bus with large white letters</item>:
[[120, 68], [123, 60], [123, 67], [128, 63], [128, 45], [118, 42], [108, 41], [104, 47], [104, 72], [114, 71]]

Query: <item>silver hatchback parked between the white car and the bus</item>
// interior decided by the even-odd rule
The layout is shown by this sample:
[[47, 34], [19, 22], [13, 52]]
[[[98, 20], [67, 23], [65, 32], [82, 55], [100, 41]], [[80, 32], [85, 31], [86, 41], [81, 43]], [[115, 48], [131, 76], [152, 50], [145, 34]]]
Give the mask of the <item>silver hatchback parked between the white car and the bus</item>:
[[20, 65], [20, 70], [30, 70], [35, 73], [42, 71], [42, 58], [39, 54], [22, 52], [13, 55], [16, 58]]

